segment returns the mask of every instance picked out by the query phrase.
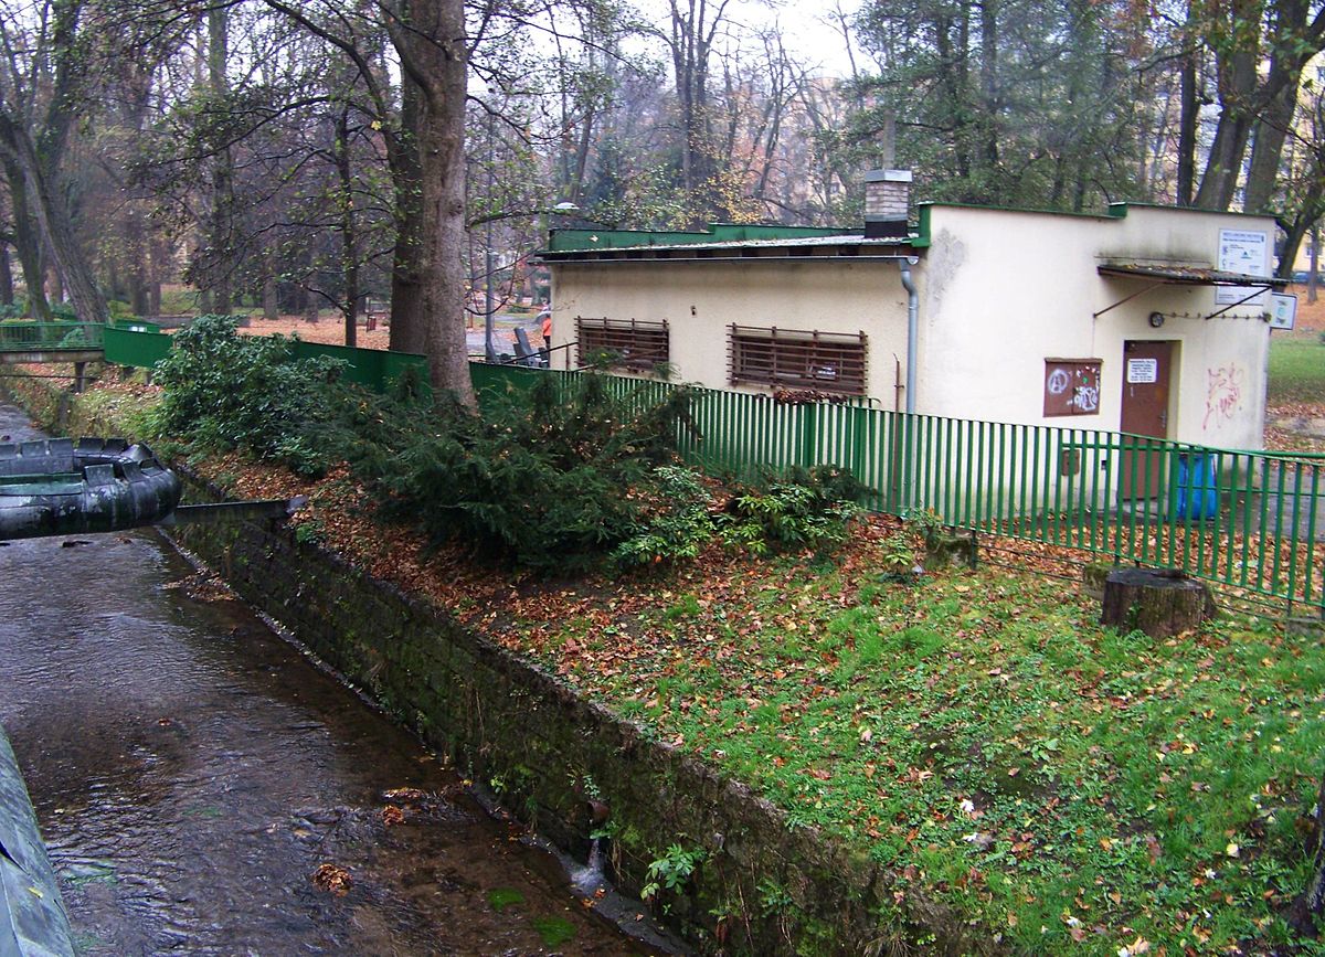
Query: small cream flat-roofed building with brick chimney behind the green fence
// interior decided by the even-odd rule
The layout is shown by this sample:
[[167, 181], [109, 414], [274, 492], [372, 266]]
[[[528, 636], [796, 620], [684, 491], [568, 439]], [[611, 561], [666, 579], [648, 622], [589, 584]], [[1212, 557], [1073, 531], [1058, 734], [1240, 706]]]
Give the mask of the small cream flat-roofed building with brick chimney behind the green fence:
[[869, 179], [864, 231], [553, 233], [554, 367], [1260, 447], [1273, 219], [926, 203], [909, 228], [909, 174]]

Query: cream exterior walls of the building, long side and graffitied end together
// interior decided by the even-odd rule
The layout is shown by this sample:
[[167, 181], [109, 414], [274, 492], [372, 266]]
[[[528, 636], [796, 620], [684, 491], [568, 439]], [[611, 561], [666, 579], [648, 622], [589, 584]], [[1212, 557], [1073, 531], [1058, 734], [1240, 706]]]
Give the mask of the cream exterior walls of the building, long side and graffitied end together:
[[[1219, 266], [1220, 229], [1267, 233], [1273, 220], [1128, 207], [1126, 216], [1067, 216], [930, 207], [928, 249], [913, 268], [920, 289], [917, 402], [922, 414], [1016, 424], [1117, 431], [1128, 339], [1174, 342], [1169, 437], [1260, 448], [1269, 329], [1263, 306], [1223, 315], [1211, 286], [1101, 277], [1106, 261]], [[868, 395], [904, 407], [894, 388], [906, 359], [906, 293], [896, 261], [757, 258], [554, 261], [553, 339], [575, 338], [575, 317], [665, 319], [676, 380], [731, 388], [727, 326], [776, 326], [868, 335]], [[1251, 272], [1251, 270], [1247, 270]], [[1264, 264], [1265, 274], [1269, 262]], [[1147, 317], [1166, 314], [1161, 329]], [[894, 359], [896, 357], [896, 359]], [[1044, 416], [1044, 361], [1098, 359], [1096, 415]], [[567, 353], [554, 353], [566, 367]], [[767, 392], [768, 387], [742, 387]]]

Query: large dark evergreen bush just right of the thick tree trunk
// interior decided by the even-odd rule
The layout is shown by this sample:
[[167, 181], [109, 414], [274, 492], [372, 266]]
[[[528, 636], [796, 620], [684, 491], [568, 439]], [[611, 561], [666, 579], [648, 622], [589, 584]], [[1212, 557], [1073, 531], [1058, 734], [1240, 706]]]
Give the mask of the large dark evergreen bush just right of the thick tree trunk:
[[356, 468], [386, 492], [388, 513], [433, 543], [545, 573], [596, 565], [637, 533], [657, 465], [674, 459], [689, 396], [613, 399], [596, 376], [558, 394], [494, 396], [482, 418], [439, 404], [431, 428], [356, 449]]

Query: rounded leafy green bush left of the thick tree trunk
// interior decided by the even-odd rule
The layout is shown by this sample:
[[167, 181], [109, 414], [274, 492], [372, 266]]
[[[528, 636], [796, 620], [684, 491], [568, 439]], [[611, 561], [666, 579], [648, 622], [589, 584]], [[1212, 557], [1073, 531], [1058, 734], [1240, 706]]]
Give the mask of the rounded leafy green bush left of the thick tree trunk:
[[293, 359], [290, 341], [240, 335], [229, 315], [204, 315], [175, 335], [156, 366], [164, 396], [152, 431], [187, 436], [195, 449], [238, 449], [319, 475], [341, 456], [331, 441], [352, 387], [343, 362]]

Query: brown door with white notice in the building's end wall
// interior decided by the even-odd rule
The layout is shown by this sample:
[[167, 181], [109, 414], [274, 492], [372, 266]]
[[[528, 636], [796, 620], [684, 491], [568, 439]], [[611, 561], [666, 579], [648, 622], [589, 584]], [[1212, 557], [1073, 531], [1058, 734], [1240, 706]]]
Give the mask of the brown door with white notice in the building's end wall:
[[[1169, 437], [1169, 370], [1171, 342], [1122, 343], [1122, 422], [1121, 429], [1133, 436]], [[1124, 498], [1158, 498], [1163, 490], [1166, 453], [1158, 443], [1145, 439], [1122, 440]]]

